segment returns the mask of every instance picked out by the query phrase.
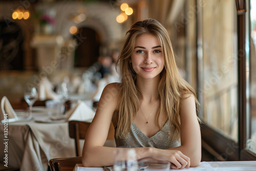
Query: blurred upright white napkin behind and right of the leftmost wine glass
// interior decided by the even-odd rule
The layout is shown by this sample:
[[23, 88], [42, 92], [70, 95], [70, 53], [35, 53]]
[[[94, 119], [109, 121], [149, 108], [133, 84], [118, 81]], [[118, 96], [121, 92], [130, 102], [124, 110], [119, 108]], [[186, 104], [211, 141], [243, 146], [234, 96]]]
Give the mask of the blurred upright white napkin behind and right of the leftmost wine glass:
[[59, 96], [53, 90], [53, 85], [47, 78], [42, 78], [38, 86], [39, 100], [58, 99]]

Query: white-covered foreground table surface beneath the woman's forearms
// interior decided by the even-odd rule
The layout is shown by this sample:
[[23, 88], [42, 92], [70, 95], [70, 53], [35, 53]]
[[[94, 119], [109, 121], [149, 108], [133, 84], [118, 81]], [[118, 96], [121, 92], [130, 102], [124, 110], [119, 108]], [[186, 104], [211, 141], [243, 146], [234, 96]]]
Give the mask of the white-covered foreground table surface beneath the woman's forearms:
[[[109, 167], [113, 170], [113, 167]], [[103, 167], [82, 167], [81, 164], [77, 164], [73, 171], [84, 171], [84, 170], [104, 170]], [[142, 169], [141, 169], [142, 170]], [[144, 168], [144, 171], [151, 170]], [[169, 169], [177, 170], [177, 169]], [[256, 161], [221, 161], [221, 162], [200, 162], [200, 165], [197, 167], [183, 168], [183, 170], [193, 170], [193, 171], [255, 171], [256, 170]]]

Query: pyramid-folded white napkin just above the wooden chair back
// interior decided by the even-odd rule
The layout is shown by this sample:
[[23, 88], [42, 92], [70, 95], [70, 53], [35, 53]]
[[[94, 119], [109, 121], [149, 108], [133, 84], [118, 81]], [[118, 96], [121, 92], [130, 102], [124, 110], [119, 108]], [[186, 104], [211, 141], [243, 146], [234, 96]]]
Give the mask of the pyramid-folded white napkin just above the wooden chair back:
[[93, 109], [81, 100], [78, 100], [76, 106], [65, 114], [67, 120], [91, 120], [94, 115]]

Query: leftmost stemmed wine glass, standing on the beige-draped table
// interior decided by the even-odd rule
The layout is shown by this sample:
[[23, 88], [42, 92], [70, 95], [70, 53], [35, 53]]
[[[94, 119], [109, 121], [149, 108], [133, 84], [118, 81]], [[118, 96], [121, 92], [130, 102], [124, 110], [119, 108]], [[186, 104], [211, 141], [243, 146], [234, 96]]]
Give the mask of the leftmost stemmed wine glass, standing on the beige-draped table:
[[24, 91], [24, 99], [29, 105], [29, 118], [32, 118], [32, 106], [38, 98], [36, 87], [27, 87]]

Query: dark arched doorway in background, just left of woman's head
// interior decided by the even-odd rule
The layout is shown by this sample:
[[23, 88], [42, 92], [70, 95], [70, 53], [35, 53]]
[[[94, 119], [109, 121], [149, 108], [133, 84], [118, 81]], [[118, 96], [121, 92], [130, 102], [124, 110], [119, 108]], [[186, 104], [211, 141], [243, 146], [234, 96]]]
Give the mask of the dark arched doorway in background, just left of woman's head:
[[[79, 39], [79, 37], [86, 37], [84, 39]], [[74, 67], [90, 67], [94, 62], [97, 61], [100, 50], [100, 36], [99, 34], [88, 27], [83, 27], [79, 29], [77, 35], [74, 38], [78, 42], [78, 47], [75, 51], [75, 63]]]

